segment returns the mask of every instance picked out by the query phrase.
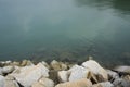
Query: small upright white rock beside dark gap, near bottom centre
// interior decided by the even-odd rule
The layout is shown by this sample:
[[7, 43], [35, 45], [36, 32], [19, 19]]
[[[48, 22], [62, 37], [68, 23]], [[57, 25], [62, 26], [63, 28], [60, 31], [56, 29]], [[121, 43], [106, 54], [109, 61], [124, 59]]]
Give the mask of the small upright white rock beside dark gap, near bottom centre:
[[58, 71], [57, 76], [61, 83], [65, 83], [68, 80], [68, 72], [67, 71]]

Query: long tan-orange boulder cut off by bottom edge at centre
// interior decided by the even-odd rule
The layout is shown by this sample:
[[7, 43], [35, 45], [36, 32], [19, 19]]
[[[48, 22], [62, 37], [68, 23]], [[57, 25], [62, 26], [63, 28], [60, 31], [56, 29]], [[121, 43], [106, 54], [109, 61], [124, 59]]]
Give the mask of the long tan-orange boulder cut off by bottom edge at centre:
[[58, 84], [55, 87], [91, 87], [91, 86], [92, 86], [92, 83], [89, 79], [82, 78], [75, 82]]

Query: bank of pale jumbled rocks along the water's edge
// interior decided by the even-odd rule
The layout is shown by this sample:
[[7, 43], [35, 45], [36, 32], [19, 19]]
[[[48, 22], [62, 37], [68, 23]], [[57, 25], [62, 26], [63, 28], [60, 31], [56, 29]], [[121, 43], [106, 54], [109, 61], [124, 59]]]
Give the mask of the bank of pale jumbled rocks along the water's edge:
[[108, 70], [94, 60], [81, 65], [5, 61], [0, 62], [0, 87], [130, 87], [130, 66]]

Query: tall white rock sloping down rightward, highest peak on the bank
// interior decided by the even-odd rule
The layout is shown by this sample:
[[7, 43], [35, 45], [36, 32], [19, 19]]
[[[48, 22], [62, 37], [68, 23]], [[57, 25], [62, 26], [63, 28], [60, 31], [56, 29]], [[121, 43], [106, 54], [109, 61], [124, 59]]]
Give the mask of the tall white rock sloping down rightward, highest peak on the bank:
[[82, 63], [82, 66], [90, 69], [90, 71], [94, 73], [95, 75], [101, 75], [104, 80], [108, 79], [107, 72], [94, 60], [89, 60]]

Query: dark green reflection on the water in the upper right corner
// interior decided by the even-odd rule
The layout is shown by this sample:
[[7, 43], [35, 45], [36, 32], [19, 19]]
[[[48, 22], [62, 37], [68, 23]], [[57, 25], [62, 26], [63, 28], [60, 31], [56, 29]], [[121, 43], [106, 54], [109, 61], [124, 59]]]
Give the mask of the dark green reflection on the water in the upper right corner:
[[120, 13], [130, 14], [130, 0], [76, 0], [76, 3], [80, 7], [107, 7], [113, 8]]

